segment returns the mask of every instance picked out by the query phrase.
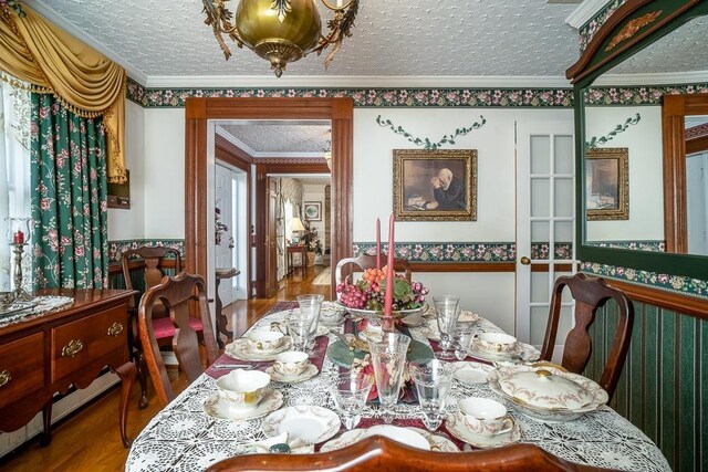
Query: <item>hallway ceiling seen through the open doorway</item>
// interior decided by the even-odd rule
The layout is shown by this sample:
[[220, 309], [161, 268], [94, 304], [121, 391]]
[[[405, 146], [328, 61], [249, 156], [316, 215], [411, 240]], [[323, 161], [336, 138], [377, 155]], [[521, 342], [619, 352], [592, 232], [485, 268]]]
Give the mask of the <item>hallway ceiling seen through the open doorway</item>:
[[[219, 127], [246, 145], [253, 156], [268, 154], [322, 154], [330, 147], [329, 125], [280, 124], [219, 125]], [[241, 146], [242, 147], [242, 146]], [[268, 157], [268, 156], [262, 156]]]

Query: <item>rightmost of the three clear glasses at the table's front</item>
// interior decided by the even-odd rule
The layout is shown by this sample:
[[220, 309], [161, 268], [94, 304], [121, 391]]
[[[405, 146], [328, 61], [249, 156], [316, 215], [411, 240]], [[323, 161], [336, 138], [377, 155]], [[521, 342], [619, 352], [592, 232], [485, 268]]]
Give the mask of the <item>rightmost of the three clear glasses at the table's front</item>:
[[423, 410], [423, 423], [428, 431], [442, 424], [445, 400], [452, 382], [452, 370], [438, 359], [410, 363], [410, 377], [416, 384]]

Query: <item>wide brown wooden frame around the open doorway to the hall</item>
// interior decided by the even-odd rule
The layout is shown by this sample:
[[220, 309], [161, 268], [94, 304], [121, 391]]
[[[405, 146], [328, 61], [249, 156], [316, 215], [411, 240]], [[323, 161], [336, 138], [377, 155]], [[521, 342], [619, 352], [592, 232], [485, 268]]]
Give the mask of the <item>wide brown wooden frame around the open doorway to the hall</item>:
[[[207, 123], [210, 119], [329, 119], [332, 124], [332, 260], [353, 253], [352, 180], [354, 101], [352, 98], [206, 98], [185, 101], [185, 268], [207, 275]], [[258, 180], [257, 180], [258, 186]], [[264, 271], [257, 264], [257, 280]], [[333, 273], [334, 277], [334, 273]], [[334, 293], [332, 281], [331, 290]]]

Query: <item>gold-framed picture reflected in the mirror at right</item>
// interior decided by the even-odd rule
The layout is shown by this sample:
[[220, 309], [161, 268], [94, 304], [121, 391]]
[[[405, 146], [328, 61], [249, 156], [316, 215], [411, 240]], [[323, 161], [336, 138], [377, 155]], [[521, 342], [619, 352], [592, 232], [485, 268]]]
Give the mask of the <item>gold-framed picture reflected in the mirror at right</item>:
[[589, 221], [629, 219], [629, 151], [585, 151], [585, 214]]

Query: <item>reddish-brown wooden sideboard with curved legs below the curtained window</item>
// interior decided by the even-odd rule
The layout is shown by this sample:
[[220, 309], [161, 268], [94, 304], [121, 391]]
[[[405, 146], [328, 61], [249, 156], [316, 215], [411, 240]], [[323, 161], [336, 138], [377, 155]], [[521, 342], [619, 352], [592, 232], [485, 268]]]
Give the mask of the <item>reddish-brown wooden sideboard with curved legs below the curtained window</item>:
[[14, 431], [43, 413], [41, 443], [51, 441], [52, 399], [70, 387], [86, 388], [108, 366], [123, 382], [119, 428], [126, 434], [135, 365], [128, 357], [125, 290], [50, 290], [74, 303], [42, 316], [0, 327], [0, 431]]

